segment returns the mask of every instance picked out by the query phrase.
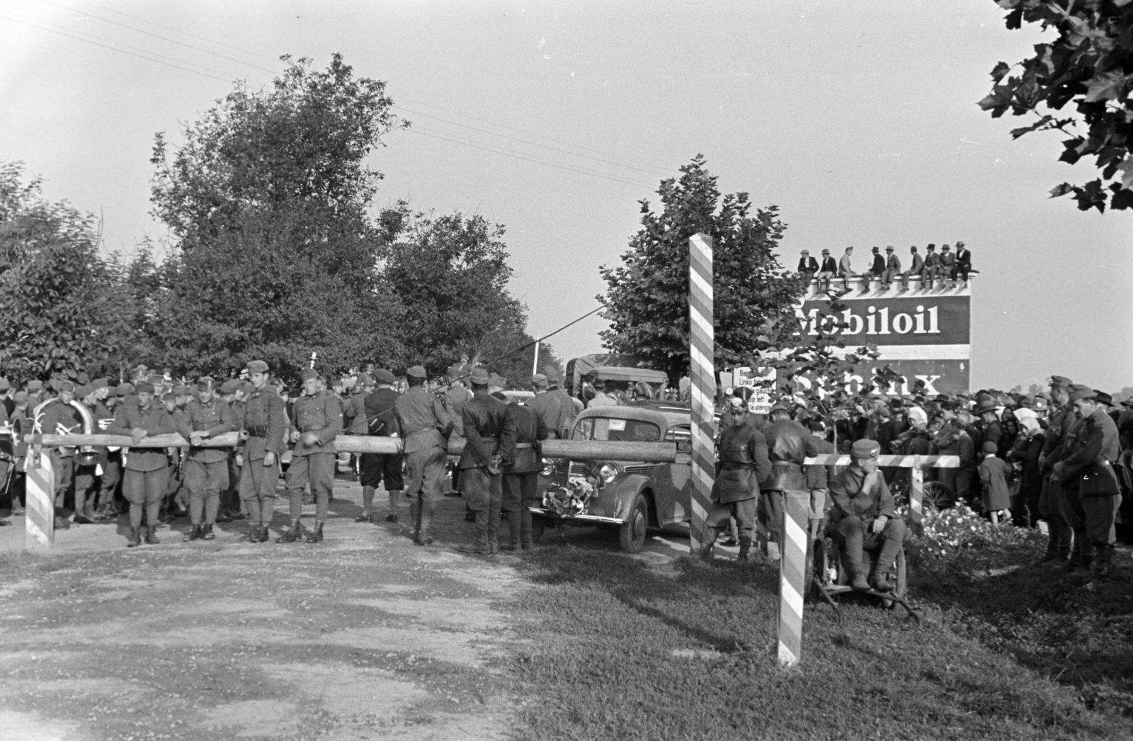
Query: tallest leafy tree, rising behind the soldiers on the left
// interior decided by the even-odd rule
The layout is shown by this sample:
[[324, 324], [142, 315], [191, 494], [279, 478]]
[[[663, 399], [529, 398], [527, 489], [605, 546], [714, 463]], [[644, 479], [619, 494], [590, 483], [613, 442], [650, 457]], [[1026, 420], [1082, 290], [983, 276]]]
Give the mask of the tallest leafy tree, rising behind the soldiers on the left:
[[398, 125], [384, 90], [339, 54], [323, 71], [299, 59], [266, 91], [238, 84], [172, 153], [156, 136], [153, 213], [174, 246], [150, 329], [162, 363], [225, 373], [262, 357], [295, 375], [312, 352], [330, 372], [400, 361], [368, 214], [382, 176], [365, 164]]

